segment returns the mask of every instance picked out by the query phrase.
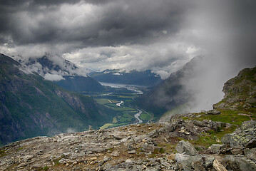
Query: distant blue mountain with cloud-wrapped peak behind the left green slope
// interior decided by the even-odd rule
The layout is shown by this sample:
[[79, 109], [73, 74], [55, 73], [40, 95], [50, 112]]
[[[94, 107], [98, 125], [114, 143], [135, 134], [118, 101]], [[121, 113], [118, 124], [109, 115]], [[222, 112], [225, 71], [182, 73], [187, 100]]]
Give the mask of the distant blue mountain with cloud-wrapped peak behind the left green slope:
[[43, 78], [53, 81], [66, 90], [75, 92], [101, 92], [104, 90], [100, 83], [87, 75], [88, 71], [78, 68], [64, 58], [46, 55], [21, 62], [31, 71], [39, 73]]

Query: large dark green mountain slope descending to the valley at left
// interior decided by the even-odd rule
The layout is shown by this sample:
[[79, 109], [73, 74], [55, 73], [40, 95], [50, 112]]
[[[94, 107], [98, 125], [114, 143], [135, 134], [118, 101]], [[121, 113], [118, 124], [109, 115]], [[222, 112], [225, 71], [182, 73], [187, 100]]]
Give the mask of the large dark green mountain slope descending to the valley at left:
[[0, 55], [0, 144], [38, 135], [98, 128], [115, 112], [45, 81]]

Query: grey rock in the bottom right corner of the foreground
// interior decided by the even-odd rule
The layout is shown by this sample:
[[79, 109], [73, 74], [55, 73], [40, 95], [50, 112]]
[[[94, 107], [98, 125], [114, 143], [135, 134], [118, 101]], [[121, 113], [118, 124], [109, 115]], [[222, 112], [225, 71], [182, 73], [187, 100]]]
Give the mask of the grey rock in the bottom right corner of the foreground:
[[227, 163], [227, 170], [244, 171], [256, 170], [256, 164], [243, 155], [226, 155], [224, 161]]

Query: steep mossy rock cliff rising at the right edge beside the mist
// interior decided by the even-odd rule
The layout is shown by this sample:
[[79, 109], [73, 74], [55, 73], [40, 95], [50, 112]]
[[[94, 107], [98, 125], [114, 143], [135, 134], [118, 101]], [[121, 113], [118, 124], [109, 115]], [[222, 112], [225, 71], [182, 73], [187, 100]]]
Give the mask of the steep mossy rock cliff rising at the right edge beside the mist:
[[256, 67], [246, 68], [223, 87], [224, 98], [214, 108], [256, 112]]

